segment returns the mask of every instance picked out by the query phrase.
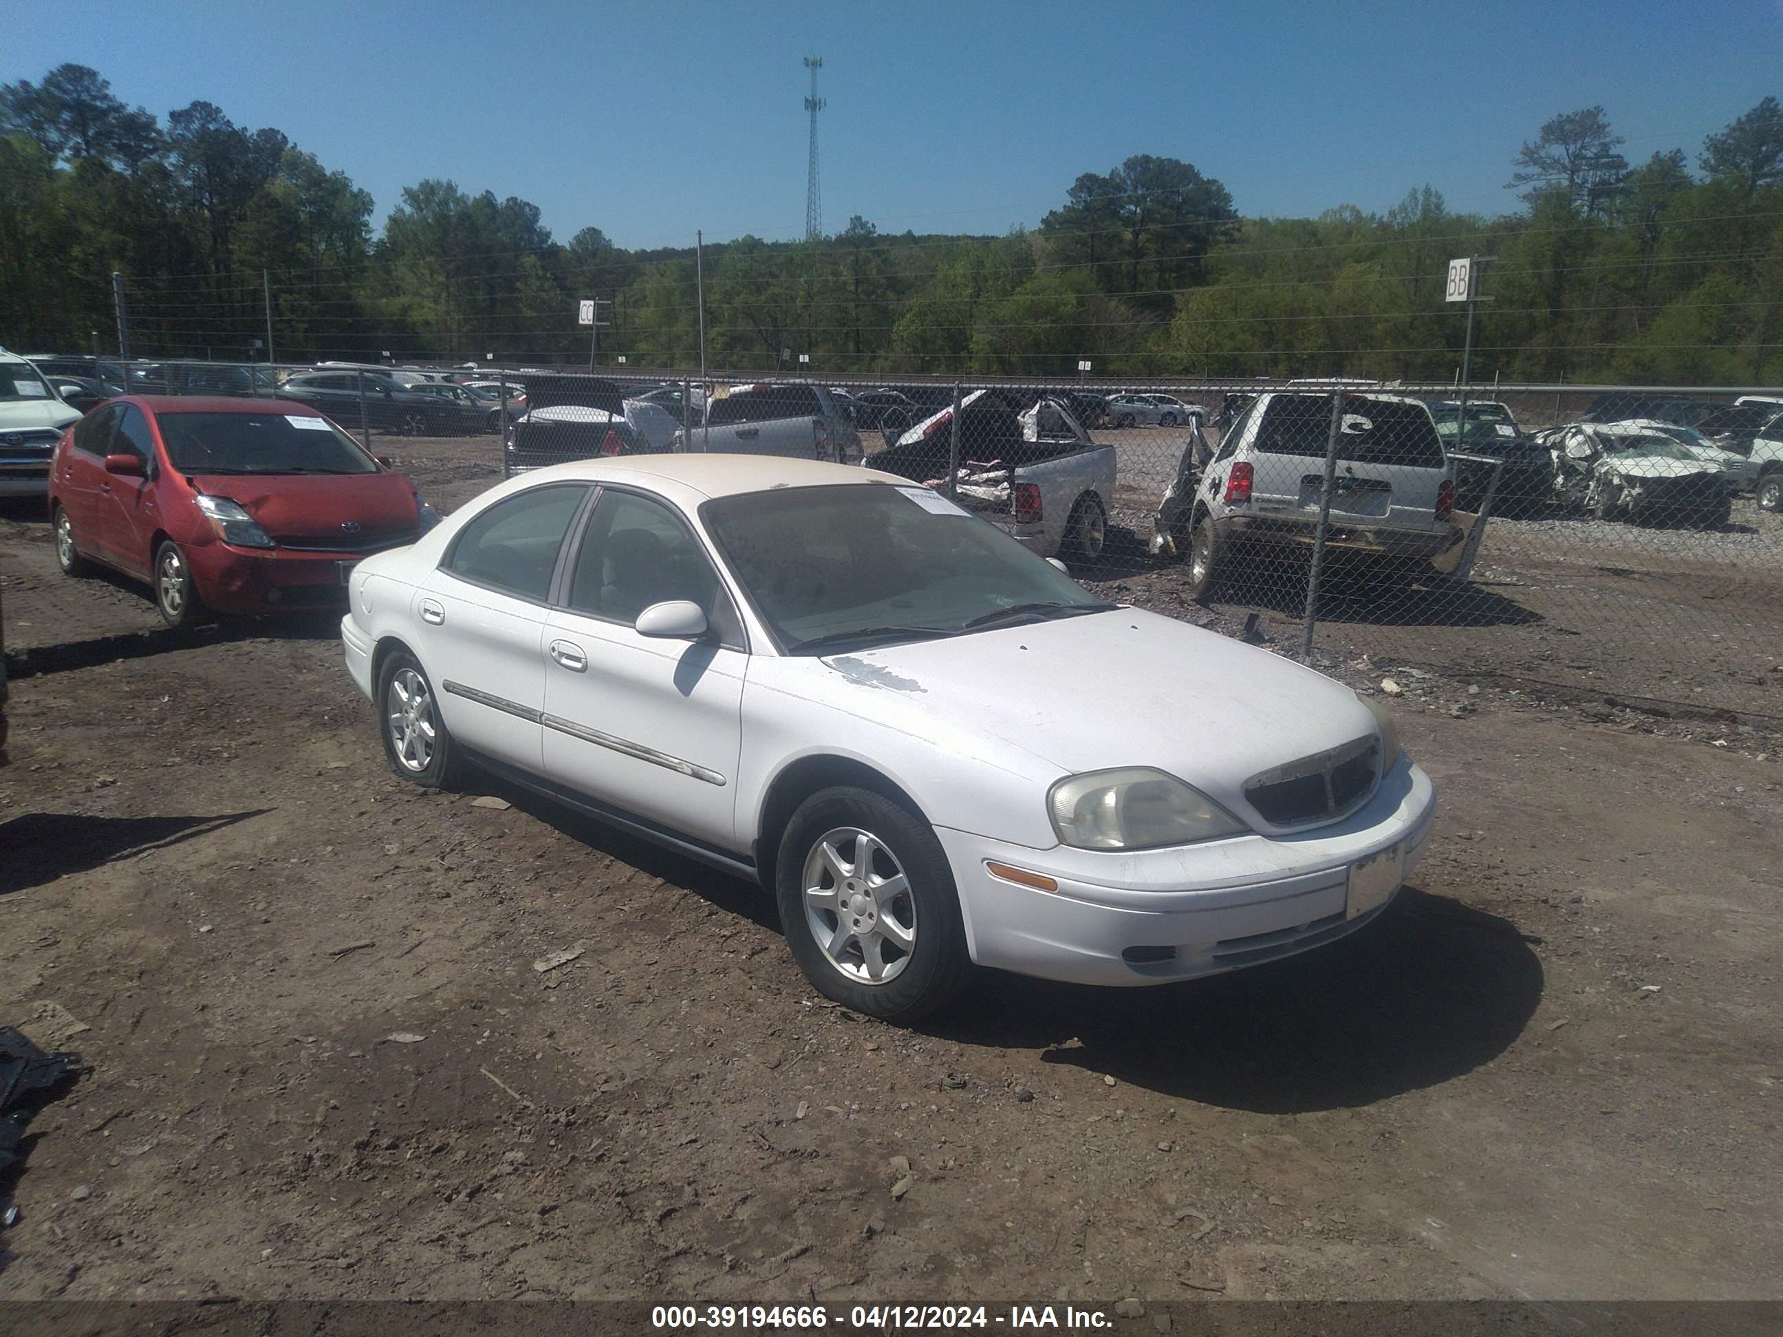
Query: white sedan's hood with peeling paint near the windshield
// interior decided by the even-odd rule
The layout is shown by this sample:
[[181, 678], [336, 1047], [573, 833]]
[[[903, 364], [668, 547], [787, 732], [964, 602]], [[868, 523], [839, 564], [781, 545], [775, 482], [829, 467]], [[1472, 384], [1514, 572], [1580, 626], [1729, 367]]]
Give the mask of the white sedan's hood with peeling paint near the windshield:
[[[1228, 806], [1261, 770], [1375, 733], [1323, 674], [1175, 619], [1118, 608], [826, 663], [934, 724], [988, 734], [1059, 775], [1157, 767]], [[872, 713], [861, 702], [856, 710]]]

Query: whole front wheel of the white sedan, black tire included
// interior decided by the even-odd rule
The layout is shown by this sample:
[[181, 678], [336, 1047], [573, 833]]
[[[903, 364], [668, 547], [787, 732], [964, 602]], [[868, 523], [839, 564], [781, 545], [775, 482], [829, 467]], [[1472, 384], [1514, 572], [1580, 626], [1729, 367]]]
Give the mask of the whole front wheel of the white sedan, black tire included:
[[[902, 890], [875, 895], [893, 881]], [[952, 1002], [972, 977], [941, 841], [881, 793], [834, 786], [799, 804], [781, 836], [774, 886], [793, 961], [843, 1007], [915, 1021]], [[838, 898], [842, 891], [850, 897]]]

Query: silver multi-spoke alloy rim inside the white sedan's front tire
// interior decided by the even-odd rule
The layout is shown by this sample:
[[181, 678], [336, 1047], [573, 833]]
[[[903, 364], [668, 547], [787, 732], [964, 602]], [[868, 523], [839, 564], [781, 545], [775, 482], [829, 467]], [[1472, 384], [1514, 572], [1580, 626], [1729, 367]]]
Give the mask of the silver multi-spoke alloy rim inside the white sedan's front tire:
[[916, 902], [902, 865], [859, 827], [818, 836], [804, 859], [804, 922], [829, 964], [856, 984], [888, 984], [916, 950]]

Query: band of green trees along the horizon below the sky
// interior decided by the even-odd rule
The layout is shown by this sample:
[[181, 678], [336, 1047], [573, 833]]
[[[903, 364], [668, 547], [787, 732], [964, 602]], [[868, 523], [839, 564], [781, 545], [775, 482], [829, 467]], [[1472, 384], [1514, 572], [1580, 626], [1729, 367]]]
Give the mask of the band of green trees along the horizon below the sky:
[[[538, 209], [423, 180], [373, 200], [273, 128], [194, 102], [166, 125], [84, 66], [0, 87], [0, 342], [241, 357], [271, 287], [285, 360], [604, 364], [820, 374], [988, 373], [1448, 380], [1466, 312], [1448, 260], [1491, 255], [1475, 374], [1763, 383], [1783, 373], [1783, 112], [1765, 98], [1701, 153], [1630, 169], [1601, 107], [1544, 123], [1514, 164], [1526, 209], [1455, 214], [1432, 185], [1385, 214], [1243, 219], [1179, 159], [1084, 173], [1034, 232], [886, 234], [628, 251], [558, 242]], [[262, 283], [267, 271], [271, 283]], [[809, 357], [809, 365], [799, 364]]]

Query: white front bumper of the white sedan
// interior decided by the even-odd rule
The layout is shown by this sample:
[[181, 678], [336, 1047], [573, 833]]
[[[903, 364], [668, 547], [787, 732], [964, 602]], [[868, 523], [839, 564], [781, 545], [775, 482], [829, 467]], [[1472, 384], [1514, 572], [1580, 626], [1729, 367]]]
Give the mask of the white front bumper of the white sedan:
[[[938, 827], [972, 959], [1072, 984], [1164, 984], [1275, 961], [1373, 922], [1423, 854], [1435, 790], [1401, 759], [1375, 797], [1330, 827], [1116, 854], [1023, 845]], [[1385, 900], [1350, 913], [1352, 868], [1400, 861]], [[1057, 891], [988, 872], [995, 859]]]

